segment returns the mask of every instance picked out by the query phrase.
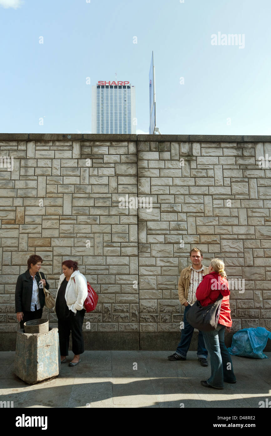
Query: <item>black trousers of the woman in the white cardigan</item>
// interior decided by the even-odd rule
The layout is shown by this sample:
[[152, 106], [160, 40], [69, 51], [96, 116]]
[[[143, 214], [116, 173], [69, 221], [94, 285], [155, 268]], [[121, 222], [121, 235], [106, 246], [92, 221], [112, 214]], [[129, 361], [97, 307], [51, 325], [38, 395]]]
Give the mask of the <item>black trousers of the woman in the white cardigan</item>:
[[76, 313], [70, 311], [69, 317], [65, 320], [58, 320], [58, 336], [61, 356], [67, 356], [69, 354], [70, 332], [73, 341], [73, 353], [84, 353], [82, 326], [85, 313], [85, 309], [77, 310]]

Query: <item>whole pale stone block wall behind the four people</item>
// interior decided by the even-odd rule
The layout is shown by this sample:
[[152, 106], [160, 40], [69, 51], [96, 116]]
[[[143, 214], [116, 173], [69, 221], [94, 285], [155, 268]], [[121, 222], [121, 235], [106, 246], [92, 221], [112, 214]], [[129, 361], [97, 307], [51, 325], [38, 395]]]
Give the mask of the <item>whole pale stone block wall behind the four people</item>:
[[[271, 330], [271, 170], [259, 165], [270, 136], [0, 134], [0, 155], [13, 160], [0, 167], [1, 338], [16, 335], [17, 277], [37, 253], [53, 295], [65, 259], [99, 294], [84, 324], [96, 348], [177, 345], [177, 282], [195, 245], [204, 265], [218, 257], [244, 279], [232, 330]], [[152, 210], [119, 207], [126, 195]]]

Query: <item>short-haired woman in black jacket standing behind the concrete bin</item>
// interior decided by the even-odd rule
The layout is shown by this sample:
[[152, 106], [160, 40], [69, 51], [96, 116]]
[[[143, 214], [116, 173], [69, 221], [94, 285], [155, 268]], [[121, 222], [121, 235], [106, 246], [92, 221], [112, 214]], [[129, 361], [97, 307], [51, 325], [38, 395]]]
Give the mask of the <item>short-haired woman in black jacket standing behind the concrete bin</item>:
[[[15, 312], [20, 327], [27, 321], [38, 320], [42, 317], [45, 302], [43, 286], [49, 289], [43, 272], [40, 272], [43, 260], [37, 254], [33, 254], [27, 260], [27, 270], [17, 279], [15, 290]], [[40, 279], [41, 275], [41, 279]]]

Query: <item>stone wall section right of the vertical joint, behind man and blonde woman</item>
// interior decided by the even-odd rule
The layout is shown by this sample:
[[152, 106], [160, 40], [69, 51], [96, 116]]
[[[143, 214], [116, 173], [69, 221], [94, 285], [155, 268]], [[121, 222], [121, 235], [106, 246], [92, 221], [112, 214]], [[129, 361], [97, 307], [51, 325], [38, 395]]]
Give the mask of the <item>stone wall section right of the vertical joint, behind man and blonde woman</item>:
[[271, 143], [229, 140], [137, 143], [138, 195], [154, 208], [139, 210], [141, 331], [179, 331], [177, 283], [194, 246], [204, 265], [218, 257], [244, 279], [231, 291], [232, 330], [271, 330], [271, 171], [259, 167]]

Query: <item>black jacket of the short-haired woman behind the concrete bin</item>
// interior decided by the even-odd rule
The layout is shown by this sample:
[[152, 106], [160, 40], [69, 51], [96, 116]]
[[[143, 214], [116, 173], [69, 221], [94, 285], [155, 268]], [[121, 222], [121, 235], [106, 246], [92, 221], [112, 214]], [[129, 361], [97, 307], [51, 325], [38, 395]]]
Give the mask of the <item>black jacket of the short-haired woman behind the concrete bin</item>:
[[[40, 275], [42, 279], [45, 279], [43, 272], [40, 271]], [[39, 286], [40, 275], [37, 272], [35, 279], [37, 280], [37, 284]], [[49, 284], [46, 281], [46, 289], [49, 289]], [[15, 290], [15, 312], [30, 312], [31, 310], [31, 300], [32, 300], [32, 290], [33, 290], [33, 279], [30, 275], [29, 270], [20, 274], [16, 283]], [[45, 296], [43, 288], [39, 287], [39, 299], [40, 299], [40, 308], [42, 309], [45, 302]]]

